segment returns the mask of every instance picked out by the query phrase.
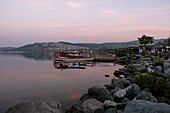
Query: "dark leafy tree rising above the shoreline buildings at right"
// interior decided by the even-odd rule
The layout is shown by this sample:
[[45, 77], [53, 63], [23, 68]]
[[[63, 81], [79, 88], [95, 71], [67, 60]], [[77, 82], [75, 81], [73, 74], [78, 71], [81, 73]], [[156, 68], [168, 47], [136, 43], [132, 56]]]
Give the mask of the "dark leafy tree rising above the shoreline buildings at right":
[[147, 44], [152, 44], [153, 43], [153, 38], [154, 37], [143, 35], [141, 38], [138, 38], [138, 39], [139, 39], [139, 43], [144, 44], [144, 46], [146, 48]]

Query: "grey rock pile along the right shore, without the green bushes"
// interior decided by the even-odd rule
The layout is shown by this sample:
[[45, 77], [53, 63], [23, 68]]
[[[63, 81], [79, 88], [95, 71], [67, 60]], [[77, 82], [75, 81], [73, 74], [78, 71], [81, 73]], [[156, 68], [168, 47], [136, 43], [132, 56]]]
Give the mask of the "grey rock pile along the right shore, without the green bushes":
[[87, 94], [67, 108], [66, 113], [169, 113], [170, 105], [164, 103], [164, 98], [158, 101], [150, 89], [141, 90], [135, 84], [140, 73], [167, 76], [167, 82], [169, 73], [162, 74], [163, 67], [153, 66], [150, 58], [135, 59], [127, 57], [121, 60], [126, 65], [114, 72], [111, 84], [89, 88]]

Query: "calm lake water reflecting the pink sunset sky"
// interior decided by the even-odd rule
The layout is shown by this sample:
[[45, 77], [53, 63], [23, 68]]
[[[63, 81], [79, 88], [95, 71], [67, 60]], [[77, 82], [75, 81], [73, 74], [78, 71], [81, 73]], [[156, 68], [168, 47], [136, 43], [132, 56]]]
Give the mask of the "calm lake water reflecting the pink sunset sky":
[[[110, 83], [114, 70], [122, 68], [114, 63], [93, 62], [82, 63], [80, 68], [80, 63], [54, 65], [46, 55], [0, 53], [0, 113], [21, 101], [37, 99], [57, 99], [65, 108], [89, 87]], [[67, 67], [70, 69], [64, 69]]]

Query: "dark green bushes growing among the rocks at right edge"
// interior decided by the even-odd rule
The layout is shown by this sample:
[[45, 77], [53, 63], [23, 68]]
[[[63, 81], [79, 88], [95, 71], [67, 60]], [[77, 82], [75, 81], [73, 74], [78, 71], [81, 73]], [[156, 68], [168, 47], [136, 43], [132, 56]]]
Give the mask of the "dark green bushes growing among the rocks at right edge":
[[141, 89], [149, 88], [155, 97], [166, 98], [166, 102], [170, 104], [170, 84], [165, 82], [164, 77], [157, 77], [153, 73], [140, 74], [136, 77], [136, 83]]

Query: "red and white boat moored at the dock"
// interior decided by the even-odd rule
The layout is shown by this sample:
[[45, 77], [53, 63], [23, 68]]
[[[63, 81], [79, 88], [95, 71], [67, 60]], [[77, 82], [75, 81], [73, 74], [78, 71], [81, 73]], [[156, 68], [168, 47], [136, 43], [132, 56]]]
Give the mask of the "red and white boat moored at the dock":
[[[85, 55], [86, 52], [55, 52], [55, 60], [58, 61], [92, 61], [95, 57]], [[83, 55], [84, 54], [84, 55]]]

